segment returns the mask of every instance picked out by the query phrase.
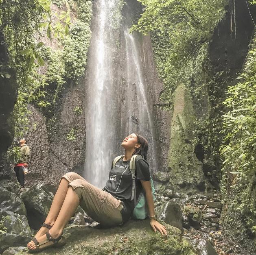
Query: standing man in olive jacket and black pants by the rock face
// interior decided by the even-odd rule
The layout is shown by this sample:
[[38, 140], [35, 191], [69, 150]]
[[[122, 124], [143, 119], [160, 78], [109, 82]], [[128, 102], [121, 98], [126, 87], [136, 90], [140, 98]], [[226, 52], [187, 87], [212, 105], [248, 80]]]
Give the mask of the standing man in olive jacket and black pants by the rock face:
[[29, 160], [29, 152], [30, 149], [26, 145], [26, 139], [22, 138], [20, 139], [20, 159], [18, 164], [15, 164], [14, 171], [16, 173], [16, 177], [18, 179], [18, 182], [20, 183], [21, 188], [24, 188], [25, 183], [25, 175], [23, 172], [23, 168], [28, 167], [28, 160]]

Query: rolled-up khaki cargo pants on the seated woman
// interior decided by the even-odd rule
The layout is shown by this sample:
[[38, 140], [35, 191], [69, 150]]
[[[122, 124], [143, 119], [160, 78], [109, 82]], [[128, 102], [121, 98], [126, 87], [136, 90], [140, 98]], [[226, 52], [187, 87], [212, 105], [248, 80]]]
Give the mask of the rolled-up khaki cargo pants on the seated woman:
[[75, 172], [64, 174], [62, 178], [68, 181], [68, 186], [77, 193], [80, 206], [93, 220], [105, 227], [112, 227], [123, 222], [120, 211], [121, 201], [111, 194], [88, 183]]

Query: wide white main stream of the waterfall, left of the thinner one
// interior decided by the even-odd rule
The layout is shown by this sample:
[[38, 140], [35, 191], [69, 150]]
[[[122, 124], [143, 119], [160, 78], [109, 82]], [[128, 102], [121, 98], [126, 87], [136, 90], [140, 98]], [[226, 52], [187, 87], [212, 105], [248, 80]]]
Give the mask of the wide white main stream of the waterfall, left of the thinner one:
[[[103, 187], [116, 146], [116, 98], [114, 35], [118, 30], [118, 0], [94, 2], [92, 39], [86, 73], [85, 179]], [[117, 101], [117, 102], [116, 102]]]

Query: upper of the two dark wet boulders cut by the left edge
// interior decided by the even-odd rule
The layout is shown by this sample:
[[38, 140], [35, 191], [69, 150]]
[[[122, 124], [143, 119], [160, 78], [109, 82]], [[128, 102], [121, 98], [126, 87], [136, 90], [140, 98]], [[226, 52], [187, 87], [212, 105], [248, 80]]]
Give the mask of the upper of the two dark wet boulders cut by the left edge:
[[13, 211], [26, 215], [26, 208], [22, 200], [14, 193], [0, 187], [0, 212]]

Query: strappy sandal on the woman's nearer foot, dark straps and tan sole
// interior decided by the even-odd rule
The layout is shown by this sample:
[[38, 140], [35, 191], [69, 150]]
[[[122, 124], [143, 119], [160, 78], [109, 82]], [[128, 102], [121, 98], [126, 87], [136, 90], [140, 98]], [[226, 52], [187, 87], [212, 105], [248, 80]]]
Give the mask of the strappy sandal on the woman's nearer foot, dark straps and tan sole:
[[[61, 247], [64, 244], [66, 244], [66, 238], [64, 238], [62, 235], [60, 235], [58, 238], [55, 239], [50, 235], [50, 233], [48, 231], [48, 232], [46, 232], [46, 237], [47, 238], [41, 242], [38, 242], [36, 238], [33, 238], [32, 241], [35, 243], [36, 249], [28, 248], [29, 252], [37, 253], [37, 252], [42, 251], [48, 247]], [[53, 243], [50, 245], [47, 245], [47, 246], [43, 246], [44, 244], [46, 244], [48, 242], [53, 242]], [[43, 246], [43, 247], [40, 248], [41, 246]]]

